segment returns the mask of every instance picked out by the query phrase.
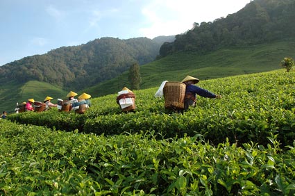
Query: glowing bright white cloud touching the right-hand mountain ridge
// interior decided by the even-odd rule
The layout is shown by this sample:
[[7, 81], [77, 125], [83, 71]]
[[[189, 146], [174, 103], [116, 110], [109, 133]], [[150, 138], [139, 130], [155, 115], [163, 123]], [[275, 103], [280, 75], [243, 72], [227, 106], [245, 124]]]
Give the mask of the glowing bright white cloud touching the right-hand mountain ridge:
[[192, 28], [194, 22], [212, 22], [243, 8], [249, 0], [150, 0], [142, 15], [146, 27], [140, 33], [148, 38], [176, 35]]

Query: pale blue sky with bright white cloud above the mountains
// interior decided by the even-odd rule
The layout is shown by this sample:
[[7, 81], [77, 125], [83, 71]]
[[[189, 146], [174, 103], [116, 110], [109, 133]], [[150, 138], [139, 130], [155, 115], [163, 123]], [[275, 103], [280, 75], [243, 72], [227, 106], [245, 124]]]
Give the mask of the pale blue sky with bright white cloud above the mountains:
[[103, 37], [177, 35], [250, 0], [0, 0], [0, 66]]

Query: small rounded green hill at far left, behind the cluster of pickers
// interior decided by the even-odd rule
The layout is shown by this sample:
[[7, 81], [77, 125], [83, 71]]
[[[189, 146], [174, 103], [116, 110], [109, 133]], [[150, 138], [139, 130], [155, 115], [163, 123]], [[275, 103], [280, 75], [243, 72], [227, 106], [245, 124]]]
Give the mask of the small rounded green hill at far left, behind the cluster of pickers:
[[6, 85], [1, 85], [0, 94], [1, 111], [13, 113], [17, 102], [20, 104], [31, 98], [35, 101], [43, 101], [47, 96], [62, 99], [67, 95], [67, 92], [45, 82], [28, 81], [19, 84], [12, 81]]

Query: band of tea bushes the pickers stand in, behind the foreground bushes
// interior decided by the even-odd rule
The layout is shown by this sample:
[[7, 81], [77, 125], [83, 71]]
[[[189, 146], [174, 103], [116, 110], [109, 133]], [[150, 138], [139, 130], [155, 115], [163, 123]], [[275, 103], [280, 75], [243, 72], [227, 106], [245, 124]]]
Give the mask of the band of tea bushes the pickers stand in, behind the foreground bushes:
[[183, 115], [165, 111], [164, 99], [155, 99], [157, 88], [135, 91], [135, 113], [121, 113], [116, 95], [92, 99], [85, 115], [74, 113], [24, 113], [12, 121], [46, 125], [66, 131], [113, 135], [155, 131], [161, 137], [194, 136], [199, 133], [214, 144], [258, 142], [278, 133], [283, 145], [295, 139], [295, 72], [285, 70], [201, 81], [202, 88], [223, 95], [222, 99], [199, 97], [197, 107]]

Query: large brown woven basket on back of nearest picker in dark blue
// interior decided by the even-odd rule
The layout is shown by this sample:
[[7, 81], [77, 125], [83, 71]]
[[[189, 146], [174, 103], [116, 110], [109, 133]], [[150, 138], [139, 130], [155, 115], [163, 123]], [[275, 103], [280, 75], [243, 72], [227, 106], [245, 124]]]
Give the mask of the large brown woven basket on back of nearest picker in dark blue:
[[182, 82], [167, 82], [163, 88], [165, 97], [165, 108], [185, 108], [185, 87]]

